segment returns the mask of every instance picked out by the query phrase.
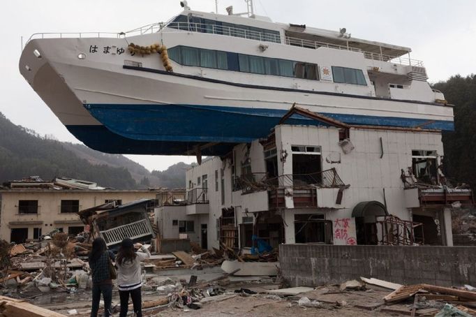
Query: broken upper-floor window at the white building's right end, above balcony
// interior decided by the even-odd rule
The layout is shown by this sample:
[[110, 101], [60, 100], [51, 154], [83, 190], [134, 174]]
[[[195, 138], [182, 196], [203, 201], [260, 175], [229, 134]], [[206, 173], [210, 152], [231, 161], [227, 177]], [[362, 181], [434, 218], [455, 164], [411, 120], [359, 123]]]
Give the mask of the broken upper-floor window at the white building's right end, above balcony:
[[412, 150], [413, 175], [426, 184], [438, 184], [436, 151]]

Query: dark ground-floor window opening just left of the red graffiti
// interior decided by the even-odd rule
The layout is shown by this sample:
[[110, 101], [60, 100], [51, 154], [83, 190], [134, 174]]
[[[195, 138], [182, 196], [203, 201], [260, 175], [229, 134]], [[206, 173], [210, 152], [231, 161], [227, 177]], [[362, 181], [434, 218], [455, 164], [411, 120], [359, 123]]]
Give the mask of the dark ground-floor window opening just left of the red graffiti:
[[332, 221], [323, 214], [295, 214], [296, 243], [325, 243], [332, 239]]

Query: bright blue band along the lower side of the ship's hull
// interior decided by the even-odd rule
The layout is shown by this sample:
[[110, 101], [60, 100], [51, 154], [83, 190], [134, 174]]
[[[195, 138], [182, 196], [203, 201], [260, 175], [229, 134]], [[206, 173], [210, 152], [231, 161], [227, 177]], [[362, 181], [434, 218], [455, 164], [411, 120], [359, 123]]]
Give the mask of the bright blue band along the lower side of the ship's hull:
[[[286, 110], [211, 105], [87, 104], [87, 110], [107, 129], [133, 140], [176, 142], [251, 142], [266, 137]], [[453, 121], [400, 117], [374, 117], [322, 113], [352, 125], [396, 126], [454, 130]], [[324, 126], [322, 122], [293, 115], [286, 124]]]

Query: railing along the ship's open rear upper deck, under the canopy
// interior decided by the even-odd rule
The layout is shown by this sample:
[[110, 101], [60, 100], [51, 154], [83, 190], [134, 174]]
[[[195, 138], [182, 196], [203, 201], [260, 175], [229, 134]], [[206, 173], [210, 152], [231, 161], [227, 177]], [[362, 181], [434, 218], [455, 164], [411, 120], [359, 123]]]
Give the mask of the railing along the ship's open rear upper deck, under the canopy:
[[345, 45], [318, 42], [315, 40], [304, 40], [303, 38], [292, 38], [290, 36], [286, 36], [285, 43], [288, 45], [307, 47], [307, 48], [313, 48], [313, 49], [318, 49], [319, 47], [328, 47], [328, 48], [334, 48], [336, 50], [350, 50], [352, 52], [361, 52], [364, 54], [364, 57], [366, 59], [373, 59], [374, 61], [387, 61], [389, 63], [401, 64], [405, 66], [424, 67], [423, 61], [419, 61], [418, 59], [409, 59], [406, 57], [395, 57], [392, 55], [380, 54], [375, 52], [366, 52], [356, 47], [350, 47], [350, 46], [348, 47]]

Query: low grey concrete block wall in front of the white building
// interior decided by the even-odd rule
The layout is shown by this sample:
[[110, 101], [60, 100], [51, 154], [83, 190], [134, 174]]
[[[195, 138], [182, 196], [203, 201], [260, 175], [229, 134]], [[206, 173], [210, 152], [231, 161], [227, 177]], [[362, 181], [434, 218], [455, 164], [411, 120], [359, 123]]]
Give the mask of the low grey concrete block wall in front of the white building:
[[281, 244], [279, 260], [290, 286], [318, 286], [359, 277], [405, 284], [476, 284], [473, 246]]

